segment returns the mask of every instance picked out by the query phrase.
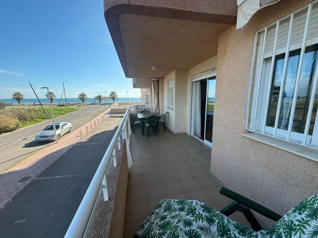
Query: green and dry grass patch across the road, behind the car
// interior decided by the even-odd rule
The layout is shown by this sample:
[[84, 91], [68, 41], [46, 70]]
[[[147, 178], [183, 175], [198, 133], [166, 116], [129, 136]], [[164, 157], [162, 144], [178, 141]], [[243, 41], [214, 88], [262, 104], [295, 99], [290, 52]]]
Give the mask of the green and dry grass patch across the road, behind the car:
[[[63, 116], [68, 113], [75, 112], [81, 109], [81, 107], [53, 107], [54, 118]], [[51, 111], [49, 107], [44, 107], [48, 117], [43, 113], [42, 108], [4, 108], [0, 111], [0, 115], [12, 118], [16, 121], [16, 128], [22, 128], [24, 126], [36, 124], [41, 121], [51, 119]], [[1, 121], [0, 121], [1, 123]], [[12, 128], [14, 128], [12, 126]], [[12, 129], [14, 130], [14, 129]], [[7, 131], [6, 131], [7, 132]]]

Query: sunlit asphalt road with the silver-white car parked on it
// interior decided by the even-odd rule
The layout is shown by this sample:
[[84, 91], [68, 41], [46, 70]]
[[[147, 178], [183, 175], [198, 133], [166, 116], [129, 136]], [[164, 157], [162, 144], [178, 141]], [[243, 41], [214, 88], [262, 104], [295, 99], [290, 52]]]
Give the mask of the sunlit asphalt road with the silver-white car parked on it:
[[[88, 106], [56, 118], [55, 121], [71, 122], [73, 130], [105, 111], [105, 106]], [[16, 131], [0, 135], [0, 175], [42, 148], [55, 142], [37, 142], [34, 136], [52, 121], [43, 121]]]

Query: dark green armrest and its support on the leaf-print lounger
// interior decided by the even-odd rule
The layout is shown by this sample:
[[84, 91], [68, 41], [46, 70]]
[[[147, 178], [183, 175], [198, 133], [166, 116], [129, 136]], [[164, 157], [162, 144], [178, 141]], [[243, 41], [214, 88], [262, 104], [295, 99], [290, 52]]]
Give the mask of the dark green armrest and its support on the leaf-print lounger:
[[263, 230], [263, 228], [261, 227], [259, 222], [256, 220], [255, 216], [252, 214], [250, 209], [275, 222], [277, 222], [279, 219], [282, 218], [281, 215], [273, 212], [272, 210], [269, 210], [268, 208], [258, 204], [257, 202], [254, 202], [228, 188], [221, 187], [220, 193], [234, 200], [233, 203], [223, 208], [220, 212], [226, 216], [230, 216], [236, 211], [243, 213], [249, 225], [251, 226], [252, 230], [254, 230], [255, 232], [261, 231]]

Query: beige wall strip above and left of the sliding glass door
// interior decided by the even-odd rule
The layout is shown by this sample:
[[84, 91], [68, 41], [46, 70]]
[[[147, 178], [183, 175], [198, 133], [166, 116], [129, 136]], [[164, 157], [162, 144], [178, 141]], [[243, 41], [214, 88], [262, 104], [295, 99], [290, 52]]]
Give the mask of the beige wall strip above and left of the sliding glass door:
[[[202, 63], [199, 63], [198, 65], [195, 65], [192, 68], [189, 68], [187, 71], [187, 90], [186, 90], [186, 111], [185, 111], [185, 123], [186, 123], [186, 128], [185, 131], [186, 133], [189, 134], [189, 107], [190, 107], [190, 86], [191, 86], [191, 77], [195, 74], [202, 73], [208, 69], [214, 68], [217, 66], [217, 59], [218, 57], [212, 57], [209, 60], [206, 60]], [[218, 72], [217, 72], [218, 73]]]

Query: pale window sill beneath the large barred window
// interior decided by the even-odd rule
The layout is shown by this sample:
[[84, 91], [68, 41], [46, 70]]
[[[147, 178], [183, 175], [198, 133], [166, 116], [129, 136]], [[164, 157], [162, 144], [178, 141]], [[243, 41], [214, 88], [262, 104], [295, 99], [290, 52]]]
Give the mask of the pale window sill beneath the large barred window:
[[257, 132], [246, 132], [242, 133], [241, 135], [318, 162], [318, 150], [316, 149], [263, 135]]

